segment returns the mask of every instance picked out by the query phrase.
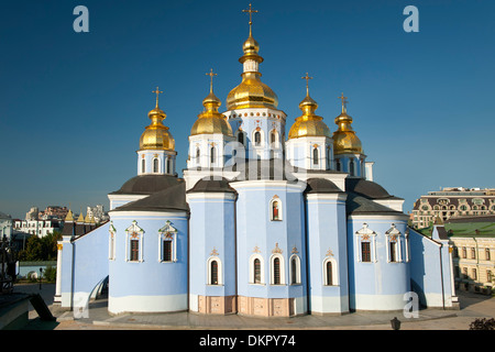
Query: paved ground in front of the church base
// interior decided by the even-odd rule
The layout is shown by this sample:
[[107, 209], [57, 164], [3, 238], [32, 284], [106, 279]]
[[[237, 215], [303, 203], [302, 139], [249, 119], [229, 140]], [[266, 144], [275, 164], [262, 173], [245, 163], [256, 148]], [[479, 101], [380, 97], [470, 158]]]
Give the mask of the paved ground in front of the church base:
[[469, 330], [476, 318], [495, 317], [494, 298], [460, 292], [459, 310], [422, 309], [419, 318], [409, 319], [402, 311], [270, 319], [188, 312], [111, 316], [106, 299], [92, 301], [87, 316], [75, 319], [73, 311], [53, 305], [54, 285], [43, 285], [42, 289], [38, 285], [18, 285], [14, 290], [40, 293], [57, 318], [56, 322], [43, 322], [31, 307], [26, 330], [392, 330], [391, 320], [394, 317], [402, 321], [400, 330]]

